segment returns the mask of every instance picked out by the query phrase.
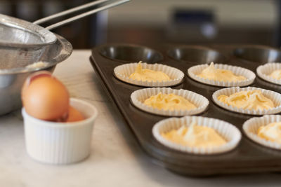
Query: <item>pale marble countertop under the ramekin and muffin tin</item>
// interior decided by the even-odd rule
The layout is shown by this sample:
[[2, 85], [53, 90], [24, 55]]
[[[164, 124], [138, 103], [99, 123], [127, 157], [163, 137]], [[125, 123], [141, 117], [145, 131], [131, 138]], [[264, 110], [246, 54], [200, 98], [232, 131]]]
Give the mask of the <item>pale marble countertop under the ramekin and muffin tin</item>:
[[0, 186], [280, 186], [281, 174], [193, 178], [169, 172], [141, 149], [110, 102], [89, 62], [90, 50], [74, 50], [54, 75], [71, 97], [95, 105], [91, 155], [72, 165], [44, 165], [25, 151], [20, 111], [0, 116]]

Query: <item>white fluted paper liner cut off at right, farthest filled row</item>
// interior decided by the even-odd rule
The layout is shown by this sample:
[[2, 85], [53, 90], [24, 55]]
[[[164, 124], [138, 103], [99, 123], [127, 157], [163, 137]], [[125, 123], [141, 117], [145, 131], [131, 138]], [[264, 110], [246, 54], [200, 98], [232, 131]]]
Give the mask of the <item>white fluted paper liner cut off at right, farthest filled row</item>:
[[276, 78], [272, 78], [269, 75], [277, 70], [277, 69], [281, 69], [281, 64], [280, 63], [268, 63], [268, 64], [264, 64], [259, 66], [256, 69], [256, 74], [258, 74], [258, 76], [260, 78], [262, 78], [263, 80], [266, 80], [270, 83], [275, 83], [277, 85], [281, 85], [281, 79], [276, 79]]

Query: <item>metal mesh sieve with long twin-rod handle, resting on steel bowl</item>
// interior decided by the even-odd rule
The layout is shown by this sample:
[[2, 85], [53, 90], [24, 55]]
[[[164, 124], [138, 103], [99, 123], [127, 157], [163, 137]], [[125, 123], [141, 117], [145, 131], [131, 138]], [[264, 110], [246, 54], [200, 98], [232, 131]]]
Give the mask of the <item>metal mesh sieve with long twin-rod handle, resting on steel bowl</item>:
[[[112, 0], [98, 0], [98, 1], [92, 1], [88, 4], [84, 4], [82, 6], [77, 6], [75, 8], [70, 8], [67, 11], [63, 11], [60, 13], [56, 13], [54, 15], [48, 16], [46, 18], [42, 18], [40, 20], [37, 20], [35, 22], [27, 22], [25, 20], [21, 20], [18, 18], [13, 18], [11, 16], [8, 15], [3, 15], [0, 14], [0, 25], [5, 25], [6, 27], [8, 27], [7, 30], [11, 29], [11, 32], [6, 32], [9, 33], [7, 34], [7, 38], [5, 39], [5, 35], [2, 35], [2, 37], [5, 39], [0, 39], [0, 47], [4, 47], [4, 48], [18, 48], [18, 49], [27, 49], [30, 50], [32, 48], [41, 48], [44, 46], [48, 46], [52, 43], [55, 43], [55, 41], [57, 40], [55, 37], [55, 34], [53, 34], [52, 32], [49, 31], [49, 29], [54, 29], [56, 27], [60, 27], [62, 25], [65, 25], [69, 22], [73, 22], [75, 20], [78, 20], [80, 18], [84, 18], [88, 15], [91, 15], [93, 13], [98, 13], [99, 11], [104, 11], [108, 8], [112, 8], [114, 6], [118, 6], [120, 4], [124, 4], [127, 1], [130, 0], [119, 0], [119, 1], [113, 1]], [[76, 15], [72, 18], [69, 18], [67, 20], [63, 20], [61, 22], [57, 22], [53, 25], [50, 25], [46, 28], [44, 27], [40, 27], [38, 24], [49, 21], [49, 20], [53, 20], [53, 18], [59, 18], [63, 15], [67, 15], [70, 13], [74, 13], [77, 11], [81, 11], [84, 10], [85, 8], [89, 8], [91, 6], [96, 6], [98, 4], [103, 4], [103, 3], [110, 3], [110, 4], [105, 4], [99, 8], [94, 8], [91, 11], [88, 11], [86, 13], [81, 13], [80, 15]], [[2, 30], [1, 30], [2, 29]], [[20, 36], [14, 36], [16, 34], [18, 34], [17, 32], [13, 32], [14, 30], [18, 30], [20, 32], [23, 32], [24, 34], [19, 34]], [[4, 27], [0, 27], [0, 32], [4, 31]], [[12, 33], [12, 34], [10, 34]], [[13, 35], [14, 34], [14, 35]], [[32, 37], [29, 37], [28, 35], [30, 34], [34, 37], [34, 41], [28, 41], [26, 42], [26, 40], [30, 39], [32, 40]], [[14, 36], [14, 39], [21, 39], [24, 42], [14, 42], [13, 39], [9, 39], [10, 36]], [[21, 37], [22, 36], [22, 37]]]

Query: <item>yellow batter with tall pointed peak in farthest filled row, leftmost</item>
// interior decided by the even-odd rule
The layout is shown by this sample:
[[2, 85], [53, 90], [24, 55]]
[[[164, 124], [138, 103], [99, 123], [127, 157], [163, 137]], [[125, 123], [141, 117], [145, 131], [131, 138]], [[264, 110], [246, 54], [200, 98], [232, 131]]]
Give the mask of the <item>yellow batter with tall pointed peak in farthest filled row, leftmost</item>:
[[171, 78], [162, 71], [154, 71], [151, 69], [143, 69], [141, 67], [141, 61], [138, 62], [135, 72], [129, 76], [129, 78], [138, 81], [169, 81]]

